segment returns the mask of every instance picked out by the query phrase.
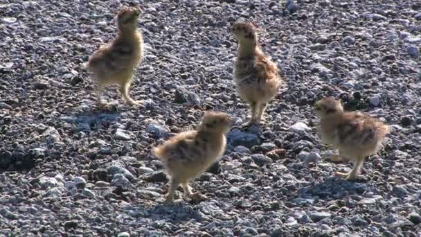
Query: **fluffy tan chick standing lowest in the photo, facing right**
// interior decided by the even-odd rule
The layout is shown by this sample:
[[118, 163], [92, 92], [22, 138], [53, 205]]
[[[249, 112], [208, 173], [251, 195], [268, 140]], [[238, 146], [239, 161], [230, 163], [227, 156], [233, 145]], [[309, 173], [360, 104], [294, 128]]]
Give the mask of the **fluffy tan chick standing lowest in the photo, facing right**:
[[181, 184], [191, 196], [190, 179], [199, 177], [224, 153], [225, 134], [232, 118], [224, 112], [205, 112], [197, 130], [181, 132], [154, 148], [154, 155], [161, 159], [171, 177], [165, 203], [174, 200], [174, 191]]

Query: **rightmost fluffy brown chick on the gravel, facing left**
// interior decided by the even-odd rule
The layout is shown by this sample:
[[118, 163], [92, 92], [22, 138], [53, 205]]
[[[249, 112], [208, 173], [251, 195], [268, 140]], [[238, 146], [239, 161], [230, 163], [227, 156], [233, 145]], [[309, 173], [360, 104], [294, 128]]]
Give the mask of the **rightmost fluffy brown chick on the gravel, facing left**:
[[321, 141], [339, 150], [341, 157], [354, 161], [350, 173], [335, 173], [356, 179], [364, 160], [382, 148], [388, 125], [362, 112], [344, 112], [340, 100], [332, 97], [316, 102], [316, 116], [321, 118]]

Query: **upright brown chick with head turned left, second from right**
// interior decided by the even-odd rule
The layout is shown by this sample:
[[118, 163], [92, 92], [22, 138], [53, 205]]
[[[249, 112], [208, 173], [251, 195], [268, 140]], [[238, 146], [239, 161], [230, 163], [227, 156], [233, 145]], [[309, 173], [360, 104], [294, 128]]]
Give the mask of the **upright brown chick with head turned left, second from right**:
[[267, 103], [278, 94], [283, 80], [278, 76], [276, 64], [260, 49], [253, 23], [235, 22], [233, 33], [238, 40], [234, 83], [240, 98], [251, 110], [250, 121], [243, 125], [260, 123]]

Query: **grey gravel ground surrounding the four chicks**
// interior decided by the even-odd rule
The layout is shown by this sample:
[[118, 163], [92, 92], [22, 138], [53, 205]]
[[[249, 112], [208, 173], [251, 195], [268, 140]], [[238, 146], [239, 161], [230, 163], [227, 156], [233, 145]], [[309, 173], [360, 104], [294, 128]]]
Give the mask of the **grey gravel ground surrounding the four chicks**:
[[[96, 108], [84, 62], [116, 33], [129, 1], [0, 3], [0, 234], [31, 236], [419, 236], [421, 3], [142, 1], [145, 58], [132, 97]], [[418, 2], [418, 3], [417, 3]], [[287, 88], [267, 125], [228, 134], [192, 187], [206, 200], [163, 206], [150, 148], [206, 109], [249, 116], [233, 89], [233, 21], [255, 21]], [[361, 180], [332, 177], [312, 104], [341, 98], [391, 124]]]

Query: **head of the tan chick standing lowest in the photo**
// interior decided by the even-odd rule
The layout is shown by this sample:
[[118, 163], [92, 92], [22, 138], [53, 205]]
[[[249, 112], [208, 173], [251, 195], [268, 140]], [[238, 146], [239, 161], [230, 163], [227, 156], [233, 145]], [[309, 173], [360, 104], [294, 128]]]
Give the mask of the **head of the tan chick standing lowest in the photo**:
[[201, 123], [200, 130], [207, 132], [226, 133], [231, 128], [233, 119], [229, 114], [224, 112], [207, 111], [205, 112]]

